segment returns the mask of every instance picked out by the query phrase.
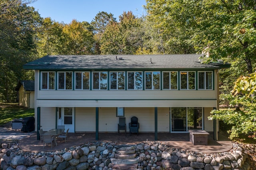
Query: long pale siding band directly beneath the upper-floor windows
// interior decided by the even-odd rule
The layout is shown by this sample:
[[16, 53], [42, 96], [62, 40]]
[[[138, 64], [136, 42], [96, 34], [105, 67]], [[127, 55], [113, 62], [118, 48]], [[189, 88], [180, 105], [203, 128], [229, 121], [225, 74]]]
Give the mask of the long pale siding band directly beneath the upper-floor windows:
[[148, 100], [216, 99], [215, 90], [40, 90], [39, 99]]

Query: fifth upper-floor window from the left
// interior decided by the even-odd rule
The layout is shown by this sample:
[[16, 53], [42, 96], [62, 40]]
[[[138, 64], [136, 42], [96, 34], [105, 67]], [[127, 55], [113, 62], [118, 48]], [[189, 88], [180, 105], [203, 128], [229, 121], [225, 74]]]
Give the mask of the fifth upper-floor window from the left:
[[111, 90], [124, 90], [124, 72], [110, 72], [110, 89]]

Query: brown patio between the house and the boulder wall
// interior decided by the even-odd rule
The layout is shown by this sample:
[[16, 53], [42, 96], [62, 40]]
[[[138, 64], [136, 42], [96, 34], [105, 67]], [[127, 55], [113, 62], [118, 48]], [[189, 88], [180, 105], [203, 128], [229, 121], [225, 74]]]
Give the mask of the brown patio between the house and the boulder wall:
[[[163, 142], [173, 148], [202, 153], [226, 152], [232, 149], [232, 142], [225, 136], [219, 134], [218, 141], [213, 140], [212, 136], [213, 134], [208, 136], [208, 145], [193, 145], [189, 141], [189, 133], [158, 133], [158, 142]], [[36, 138], [36, 133], [22, 138], [19, 147], [29, 152], [47, 152], [96, 141], [95, 133], [68, 133], [66, 143], [65, 140], [58, 140], [58, 146], [53, 143], [51, 149], [49, 144], [43, 148], [43, 143], [40, 143], [40, 140], [36, 140]], [[129, 133], [126, 136], [124, 133], [99, 133], [98, 141], [113, 142], [115, 144], [138, 144], [147, 140], [154, 141], [154, 133], [139, 133], [139, 135], [132, 134], [131, 136]]]

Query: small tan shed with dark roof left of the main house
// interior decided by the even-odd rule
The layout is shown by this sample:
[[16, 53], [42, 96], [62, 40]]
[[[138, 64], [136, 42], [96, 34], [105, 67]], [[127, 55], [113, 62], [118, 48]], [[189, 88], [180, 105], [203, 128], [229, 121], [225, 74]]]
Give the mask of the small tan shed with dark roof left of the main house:
[[35, 108], [35, 81], [21, 80], [15, 90], [20, 106]]

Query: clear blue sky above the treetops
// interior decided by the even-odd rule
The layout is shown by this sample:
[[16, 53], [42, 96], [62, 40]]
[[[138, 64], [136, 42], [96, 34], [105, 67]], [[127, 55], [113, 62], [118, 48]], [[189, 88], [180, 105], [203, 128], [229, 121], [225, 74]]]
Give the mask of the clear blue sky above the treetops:
[[37, 0], [29, 4], [41, 17], [50, 17], [65, 24], [73, 19], [90, 23], [102, 11], [112, 13], [117, 20], [124, 11], [132, 11], [140, 17], [146, 15], [143, 5], [146, 5], [145, 0]]

